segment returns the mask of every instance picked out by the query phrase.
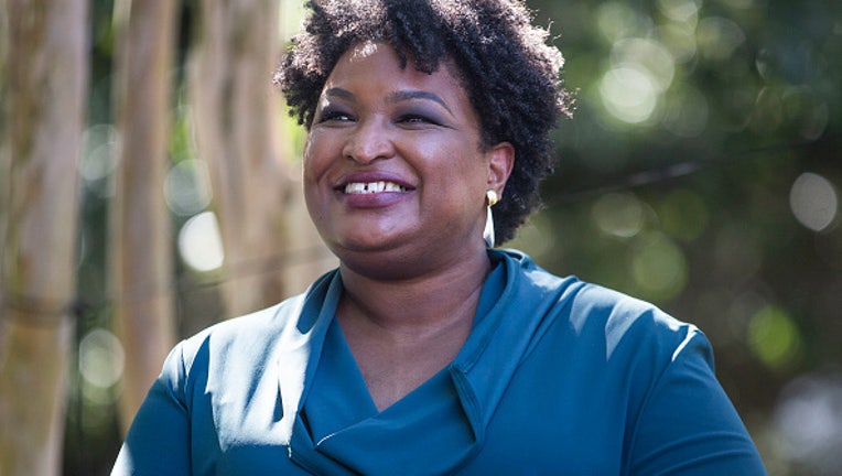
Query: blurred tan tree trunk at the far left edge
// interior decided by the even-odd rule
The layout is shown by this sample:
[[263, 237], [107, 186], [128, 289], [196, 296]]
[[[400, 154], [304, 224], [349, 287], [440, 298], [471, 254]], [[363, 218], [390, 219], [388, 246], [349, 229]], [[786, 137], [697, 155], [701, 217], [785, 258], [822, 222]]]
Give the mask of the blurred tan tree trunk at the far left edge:
[[0, 474], [57, 475], [76, 292], [85, 0], [7, 0], [0, 149]]

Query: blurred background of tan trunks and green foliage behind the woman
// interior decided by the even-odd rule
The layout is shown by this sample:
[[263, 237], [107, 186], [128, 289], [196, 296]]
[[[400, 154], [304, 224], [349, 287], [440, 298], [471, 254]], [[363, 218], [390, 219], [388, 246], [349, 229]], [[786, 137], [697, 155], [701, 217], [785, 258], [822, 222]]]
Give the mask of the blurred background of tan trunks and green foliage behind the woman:
[[[271, 85], [301, 1], [220, 3], [0, 1], [0, 474], [108, 474], [174, 342], [335, 264]], [[769, 474], [842, 474], [842, 4], [527, 3], [576, 107], [507, 246], [697, 324]]]

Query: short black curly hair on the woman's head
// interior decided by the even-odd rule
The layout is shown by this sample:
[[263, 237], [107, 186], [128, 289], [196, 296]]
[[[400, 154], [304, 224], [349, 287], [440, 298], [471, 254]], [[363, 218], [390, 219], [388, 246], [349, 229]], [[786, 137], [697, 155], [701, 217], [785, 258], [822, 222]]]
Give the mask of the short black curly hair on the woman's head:
[[570, 116], [559, 77], [561, 52], [531, 24], [518, 0], [310, 0], [312, 11], [274, 82], [290, 115], [311, 126], [322, 88], [339, 57], [367, 41], [395, 47], [407, 66], [432, 73], [453, 61], [481, 120], [482, 147], [508, 141], [515, 164], [493, 208], [497, 242], [515, 236], [540, 205], [538, 183], [554, 163], [550, 130]]

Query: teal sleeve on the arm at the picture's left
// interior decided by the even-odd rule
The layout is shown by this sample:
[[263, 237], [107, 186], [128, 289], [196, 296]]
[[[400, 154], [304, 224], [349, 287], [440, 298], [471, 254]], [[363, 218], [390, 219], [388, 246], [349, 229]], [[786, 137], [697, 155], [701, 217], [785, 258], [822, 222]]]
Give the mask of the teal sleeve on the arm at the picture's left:
[[138, 410], [112, 476], [188, 475], [190, 415], [185, 404], [183, 344], [168, 356], [163, 370]]

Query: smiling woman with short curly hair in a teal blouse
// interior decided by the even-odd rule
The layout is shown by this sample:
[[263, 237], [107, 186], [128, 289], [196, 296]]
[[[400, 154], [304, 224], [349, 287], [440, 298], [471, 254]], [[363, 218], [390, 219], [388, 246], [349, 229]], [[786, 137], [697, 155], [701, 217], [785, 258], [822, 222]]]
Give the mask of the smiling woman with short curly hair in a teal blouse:
[[278, 83], [341, 266], [176, 346], [114, 474], [764, 474], [695, 327], [493, 249], [569, 106], [525, 7], [309, 6]]

